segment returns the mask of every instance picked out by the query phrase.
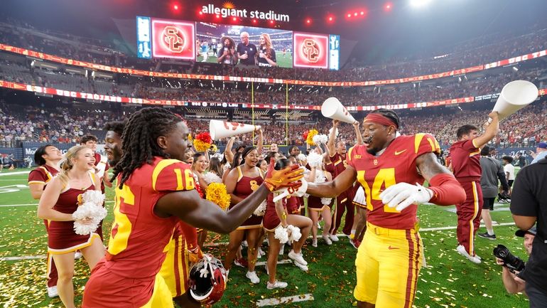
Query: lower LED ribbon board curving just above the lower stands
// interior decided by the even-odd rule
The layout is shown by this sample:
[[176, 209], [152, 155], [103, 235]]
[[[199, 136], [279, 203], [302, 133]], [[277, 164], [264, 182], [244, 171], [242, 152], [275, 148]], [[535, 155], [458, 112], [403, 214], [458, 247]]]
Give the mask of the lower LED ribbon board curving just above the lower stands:
[[[105, 102], [124, 102], [129, 104], [144, 104], [144, 105], [170, 105], [170, 106], [185, 106], [185, 107], [242, 107], [242, 108], [259, 108], [259, 109], [285, 109], [289, 110], [321, 110], [319, 105], [284, 105], [284, 104], [249, 104], [245, 102], [199, 102], [199, 101], [188, 101], [188, 100], [148, 100], [145, 98], [134, 98], [134, 97], [120, 97], [113, 95], [102, 95], [94, 94], [87, 92], [75, 92], [54, 89], [52, 87], [38, 87], [36, 85], [26, 85], [24, 83], [13, 83], [11, 81], [0, 80], [0, 87], [6, 87], [13, 90], [23, 90], [28, 92], [35, 93], [44, 93], [50, 95], [58, 95], [72, 98], [82, 98], [85, 100], [101, 100]], [[539, 96], [546, 95], [547, 88], [541, 89], [538, 91]], [[397, 105], [377, 105], [377, 106], [348, 106], [348, 111], [372, 111], [380, 108], [386, 109], [409, 109], [409, 108], [419, 108], [419, 107], [435, 107], [435, 106], [445, 106], [460, 104], [465, 102], [475, 102], [478, 100], [489, 100], [492, 97], [498, 97], [499, 93], [489, 94], [489, 95], [480, 95], [477, 97], [460, 97], [452, 98], [449, 100], [435, 100], [433, 102], [409, 102], [407, 104], [397, 104]]]

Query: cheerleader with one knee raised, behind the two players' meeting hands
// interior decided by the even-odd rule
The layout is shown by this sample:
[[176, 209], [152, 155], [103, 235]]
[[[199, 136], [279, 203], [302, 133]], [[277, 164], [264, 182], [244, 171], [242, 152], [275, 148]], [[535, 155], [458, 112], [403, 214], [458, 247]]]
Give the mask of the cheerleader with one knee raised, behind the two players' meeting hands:
[[[291, 166], [291, 161], [289, 159], [279, 159], [276, 162], [275, 169], [281, 170]], [[287, 225], [293, 225], [297, 228], [300, 228], [300, 239], [293, 243], [293, 250], [288, 253], [300, 270], [308, 271], [308, 262], [304, 260], [302, 255], [302, 246], [308, 234], [310, 234], [310, 229], [312, 228], [312, 221], [308, 217], [300, 216], [299, 214], [291, 214], [287, 211], [287, 200], [290, 198], [283, 198], [276, 203], [273, 203], [273, 194], [270, 193], [268, 198], [266, 198], [266, 213], [264, 214], [264, 229], [268, 233], [268, 275], [269, 280], [266, 284], [266, 287], [269, 290], [276, 288], [284, 288], [287, 286], [286, 282], [279, 282], [276, 280], [276, 268], [277, 268], [277, 256], [281, 250], [280, 240], [276, 238], [276, 228], [282, 227], [286, 228]]]

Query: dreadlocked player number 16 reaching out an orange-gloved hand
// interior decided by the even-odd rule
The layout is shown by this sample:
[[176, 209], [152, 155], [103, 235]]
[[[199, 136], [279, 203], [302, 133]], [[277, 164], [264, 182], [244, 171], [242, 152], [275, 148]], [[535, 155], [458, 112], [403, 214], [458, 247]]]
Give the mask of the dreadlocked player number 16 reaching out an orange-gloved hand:
[[229, 233], [268, 193], [295, 186], [301, 169], [269, 171], [254, 193], [224, 212], [200, 198], [183, 156], [188, 127], [163, 108], [144, 108], [129, 118], [117, 178], [114, 223], [106, 256], [94, 267], [82, 307], [173, 307], [170, 290], [157, 275], [179, 219], [199, 228]]

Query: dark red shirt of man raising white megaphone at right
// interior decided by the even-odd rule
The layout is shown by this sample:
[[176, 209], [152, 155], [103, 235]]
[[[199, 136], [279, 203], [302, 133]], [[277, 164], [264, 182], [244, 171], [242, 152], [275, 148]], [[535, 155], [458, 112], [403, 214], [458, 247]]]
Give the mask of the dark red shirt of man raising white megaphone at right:
[[458, 181], [480, 181], [480, 149], [475, 147], [472, 139], [454, 142], [450, 147], [450, 157]]

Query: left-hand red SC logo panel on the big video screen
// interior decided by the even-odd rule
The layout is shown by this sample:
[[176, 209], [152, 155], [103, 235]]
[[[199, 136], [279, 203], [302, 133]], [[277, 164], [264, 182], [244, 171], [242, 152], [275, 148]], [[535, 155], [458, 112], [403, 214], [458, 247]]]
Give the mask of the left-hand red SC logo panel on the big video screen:
[[151, 18], [153, 58], [195, 60], [195, 23]]

